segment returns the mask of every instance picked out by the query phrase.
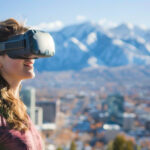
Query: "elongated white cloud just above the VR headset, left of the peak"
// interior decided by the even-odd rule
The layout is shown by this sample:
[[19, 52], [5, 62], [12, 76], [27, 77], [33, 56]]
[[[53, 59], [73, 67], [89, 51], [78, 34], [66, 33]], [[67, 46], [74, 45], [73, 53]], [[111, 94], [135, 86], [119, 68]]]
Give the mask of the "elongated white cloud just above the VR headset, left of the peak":
[[58, 20], [49, 23], [43, 22], [40, 23], [39, 25], [32, 26], [31, 28], [38, 29], [38, 30], [45, 30], [45, 31], [56, 31], [61, 29], [63, 26], [64, 26], [63, 23]]

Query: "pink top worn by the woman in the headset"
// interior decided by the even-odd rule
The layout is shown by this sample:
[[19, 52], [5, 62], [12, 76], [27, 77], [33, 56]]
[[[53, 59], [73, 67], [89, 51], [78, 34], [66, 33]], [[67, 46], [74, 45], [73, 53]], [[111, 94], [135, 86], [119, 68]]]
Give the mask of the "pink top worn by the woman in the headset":
[[8, 129], [4, 117], [0, 116], [0, 150], [42, 150], [42, 140], [29, 118], [30, 128], [25, 133]]

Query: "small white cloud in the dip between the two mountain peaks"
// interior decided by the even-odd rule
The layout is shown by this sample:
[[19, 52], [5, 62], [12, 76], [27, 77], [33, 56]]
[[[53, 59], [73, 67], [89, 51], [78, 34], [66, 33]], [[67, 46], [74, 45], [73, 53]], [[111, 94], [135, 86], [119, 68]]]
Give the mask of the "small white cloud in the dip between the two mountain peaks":
[[106, 27], [106, 28], [111, 28], [111, 27], [116, 27], [118, 24], [113, 22], [113, 21], [109, 21], [106, 18], [100, 19], [98, 21], [98, 24], [100, 26]]

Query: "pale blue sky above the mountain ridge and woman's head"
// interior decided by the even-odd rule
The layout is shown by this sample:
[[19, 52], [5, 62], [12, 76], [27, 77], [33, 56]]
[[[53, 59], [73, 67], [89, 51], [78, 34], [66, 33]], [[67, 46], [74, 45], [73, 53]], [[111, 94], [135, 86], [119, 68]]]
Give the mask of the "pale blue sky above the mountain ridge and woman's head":
[[86, 20], [150, 28], [150, 0], [0, 0], [0, 6], [0, 20], [14, 17], [49, 29]]

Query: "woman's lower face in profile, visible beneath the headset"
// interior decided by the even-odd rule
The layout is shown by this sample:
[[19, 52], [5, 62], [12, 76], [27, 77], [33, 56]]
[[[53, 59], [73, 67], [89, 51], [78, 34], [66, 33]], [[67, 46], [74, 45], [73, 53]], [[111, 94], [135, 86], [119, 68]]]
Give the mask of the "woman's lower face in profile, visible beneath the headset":
[[8, 55], [0, 56], [0, 73], [7, 80], [21, 81], [33, 78], [34, 59], [12, 59]]

